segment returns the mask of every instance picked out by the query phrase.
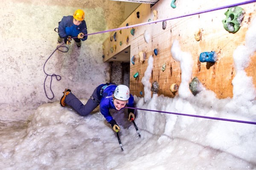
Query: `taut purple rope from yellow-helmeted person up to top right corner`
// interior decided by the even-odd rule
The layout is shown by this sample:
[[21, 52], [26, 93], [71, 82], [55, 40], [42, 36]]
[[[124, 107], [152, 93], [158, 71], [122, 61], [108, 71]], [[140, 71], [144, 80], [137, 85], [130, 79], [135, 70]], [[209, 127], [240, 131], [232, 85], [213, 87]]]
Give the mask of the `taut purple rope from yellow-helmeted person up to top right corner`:
[[[231, 4], [231, 5], [227, 5], [227, 6], [221, 6], [221, 7], [217, 7], [217, 8], [207, 9], [207, 10], [198, 11], [198, 12], [194, 12], [194, 13], [190, 13], [190, 14], [180, 15], [180, 16], [177, 16], [177, 17], [171, 17], [171, 18], [166, 18], [166, 19], [161, 19], [161, 20], [150, 21], [150, 22], [146, 22], [146, 23], [135, 24], [135, 25], [131, 25], [131, 26], [114, 28], [114, 29], [99, 31], [99, 32], [86, 34], [86, 35], [101, 34], [101, 33], [105, 33], [105, 32], [117, 31], [117, 30], [125, 29], [125, 28], [144, 26], [144, 25], [147, 25], [147, 24], [158, 23], [158, 22], [161, 22], [161, 21], [173, 20], [173, 19], [182, 18], [182, 17], [189, 17], [189, 16], [192, 16], [192, 15], [202, 14], [202, 13], [211, 12], [211, 11], [217, 11], [217, 10], [221, 10], [221, 9], [224, 9], [224, 8], [230, 8], [230, 7], [234, 7], [234, 6], [241, 6], [241, 5], [245, 5], [245, 4], [248, 4], [248, 3], [254, 3], [254, 2], [256, 2], [256, 0], [248, 0], [248, 1], [241, 2], [241, 3], [235, 3], [235, 4]], [[86, 36], [86, 35], [84, 35], [84, 36]], [[76, 38], [76, 37], [72, 37], [72, 38]]]

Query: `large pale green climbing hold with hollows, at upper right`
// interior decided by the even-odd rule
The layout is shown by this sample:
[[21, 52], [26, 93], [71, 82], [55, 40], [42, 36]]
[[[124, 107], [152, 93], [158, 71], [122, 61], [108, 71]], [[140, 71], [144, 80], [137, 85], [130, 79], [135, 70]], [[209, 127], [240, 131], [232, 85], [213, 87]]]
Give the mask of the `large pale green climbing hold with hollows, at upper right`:
[[244, 13], [244, 9], [239, 6], [228, 8], [224, 13], [226, 18], [222, 20], [225, 30], [231, 33], [236, 33], [241, 27]]

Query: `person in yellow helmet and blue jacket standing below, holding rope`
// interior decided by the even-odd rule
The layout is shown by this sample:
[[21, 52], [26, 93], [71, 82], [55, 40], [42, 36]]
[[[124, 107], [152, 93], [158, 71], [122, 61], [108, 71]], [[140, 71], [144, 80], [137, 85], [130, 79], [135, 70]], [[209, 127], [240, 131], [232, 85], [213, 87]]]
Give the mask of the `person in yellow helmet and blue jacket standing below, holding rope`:
[[73, 16], [64, 16], [61, 22], [59, 22], [58, 42], [62, 42], [64, 39], [64, 42], [67, 45], [70, 45], [70, 37], [77, 37], [73, 38], [73, 40], [76, 42], [78, 47], [81, 47], [81, 40], [87, 40], [86, 34], [87, 26], [84, 20], [84, 11], [81, 9], [76, 10]]

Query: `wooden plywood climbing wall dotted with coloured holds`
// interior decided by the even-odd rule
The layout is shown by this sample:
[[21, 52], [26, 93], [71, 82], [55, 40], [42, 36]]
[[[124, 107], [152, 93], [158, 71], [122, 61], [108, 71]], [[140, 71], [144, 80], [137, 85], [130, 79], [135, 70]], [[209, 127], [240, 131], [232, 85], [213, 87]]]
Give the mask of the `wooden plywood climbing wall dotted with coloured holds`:
[[[160, 0], [153, 7], [148, 4], [139, 6], [120, 27], [163, 20], [239, 2], [241, 0], [214, 0], [211, 2], [176, 0], [171, 6], [172, 1]], [[232, 80], [236, 75], [233, 53], [237, 46], [245, 44], [245, 34], [256, 16], [255, 6], [256, 3], [240, 6], [245, 14], [240, 24], [241, 28], [236, 33], [224, 29], [222, 20], [226, 18], [224, 13], [227, 8], [166, 20], [166, 22], [136, 26], [134, 30], [125, 28], [121, 29], [121, 32], [113, 31], [112, 36], [103, 44], [104, 61], [108, 62], [120, 51], [130, 46], [130, 58], [133, 61], [130, 62], [130, 90], [132, 94], [143, 96], [141, 79], [148, 66], [148, 57], [152, 55], [154, 64], [150, 82], [157, 81], [159, 83], [159, 95], [174, 97], [178, 93], [170, 91], [170, 86], [174, 83], [180, 85], [182, 72], [180, 63], [172, 57], [171, 47], [173, 41], [178, 40], [181, 50], [192, 56], [191, 80], [197, 77], [204, 87], [214, 91], [218, 98], [232, 97]], [[113, 37], [116, 41], [111, 41]], [[129, 37], [129, 41], [125, 41], [127, 37]], [[120, 41], [122, 41], [122, 45], [119, 44]], [[200, 54], [211, 51], [215, 53], [213, 55], [216, 57], [215, 62], [201, 62]], [[145, 61], [142, 61], [143, 57], [140, 58], [139, 54], [145, 55]], [[210, 53], [209, 57], [211, 57]], [[250, 64], [245, 69], [247, 75], [253, 78], [254, 86], [256, 86], [255, 68], [256, 53], [251, 56]], [[135, 75], [137, 72], [138, 76]]]

